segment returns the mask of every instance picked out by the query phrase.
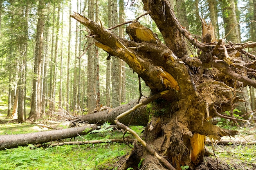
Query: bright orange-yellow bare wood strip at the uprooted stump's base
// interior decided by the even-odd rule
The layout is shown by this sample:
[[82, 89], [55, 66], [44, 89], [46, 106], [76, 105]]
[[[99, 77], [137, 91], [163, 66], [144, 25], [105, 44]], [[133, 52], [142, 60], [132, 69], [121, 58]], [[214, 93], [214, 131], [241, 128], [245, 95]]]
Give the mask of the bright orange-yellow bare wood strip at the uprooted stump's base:
[[204, 154], [205, 135], [195, 133], [191, 138], [191, 161], [197, 164], [202, 154]]

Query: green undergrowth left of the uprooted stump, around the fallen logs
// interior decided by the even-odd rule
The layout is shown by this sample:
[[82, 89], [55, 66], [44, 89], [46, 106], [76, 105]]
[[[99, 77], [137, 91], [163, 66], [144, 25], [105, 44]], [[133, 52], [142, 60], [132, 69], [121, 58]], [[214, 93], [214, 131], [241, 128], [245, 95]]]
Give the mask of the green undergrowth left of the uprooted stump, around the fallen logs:
[[[5, 114], [2, 116], [6, 116]], [[2, 119], [0, 117], [0, 119]], [[60, 124], [58, 128], [63, 126]], [[142, 126], [131, 126], [140, 133]], [[21, 134], [42, 131], [34, 124], [0, 124], [0, 135]], [[117, 130], [90, 133], [62, 141], [105, 140], [122, 138], [123, 132]], [[124, 137], [131, 137], [126, 133]], [[50, 143], [47, 143], [50, 144]], [[132, 146], [130, 144], [130, 146]], [[124, 143], [101, 143], [84, 145], [64, 145], [57, 147], [18, 147], [0, 150], [0, 170], [115, 170], [121, 156], [131, 148]], [[120, 165], [121, 166], [121, 165]]]

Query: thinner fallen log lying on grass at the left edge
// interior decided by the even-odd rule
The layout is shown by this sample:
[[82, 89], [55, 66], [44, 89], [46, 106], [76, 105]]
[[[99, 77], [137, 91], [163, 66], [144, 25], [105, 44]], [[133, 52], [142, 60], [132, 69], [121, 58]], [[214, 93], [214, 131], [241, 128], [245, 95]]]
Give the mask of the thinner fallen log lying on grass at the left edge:
[[[85, 129], [88, 130], [83, 132]], [[95, 129], [97, 129], [97, 126], [91, 125], [28, 134], [0, 135], [0, 150], [16, 148], [18, 146], [27, 146], [28, 144], [43, 144], [45, 142], [56, 141], [59, 139], [77, 137], [78, 135], [86, 135], [88, 132]]]

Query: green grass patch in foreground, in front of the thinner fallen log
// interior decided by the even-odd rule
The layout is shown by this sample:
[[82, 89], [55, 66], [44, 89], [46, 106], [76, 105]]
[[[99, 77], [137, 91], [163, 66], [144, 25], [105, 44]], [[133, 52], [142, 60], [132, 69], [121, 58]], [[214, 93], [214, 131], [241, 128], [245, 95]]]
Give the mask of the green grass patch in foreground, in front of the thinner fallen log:
[[[33, 148], [33, 147], [32, 147]], [[0, 151], [3, 170], [92, 170], [129, 152], [125, 144], [65, 145], [50, 148], [19, 147]]]

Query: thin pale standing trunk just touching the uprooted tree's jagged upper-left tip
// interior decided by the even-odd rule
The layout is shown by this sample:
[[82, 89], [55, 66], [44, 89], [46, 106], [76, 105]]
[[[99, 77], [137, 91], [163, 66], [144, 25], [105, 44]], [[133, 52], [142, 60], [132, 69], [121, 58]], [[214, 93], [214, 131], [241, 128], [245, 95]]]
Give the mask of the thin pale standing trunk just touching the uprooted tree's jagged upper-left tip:
[[[70, 15], [72, 13], [72, 3], [70, 1]], [[71, 18], [69, 18], [68, 30], [68, 47], [67, 47], [67, 91], [66, 91], [66, 110], [69, 111], [69, 98], [70, 98], [70, 48], [71, 48]]]

